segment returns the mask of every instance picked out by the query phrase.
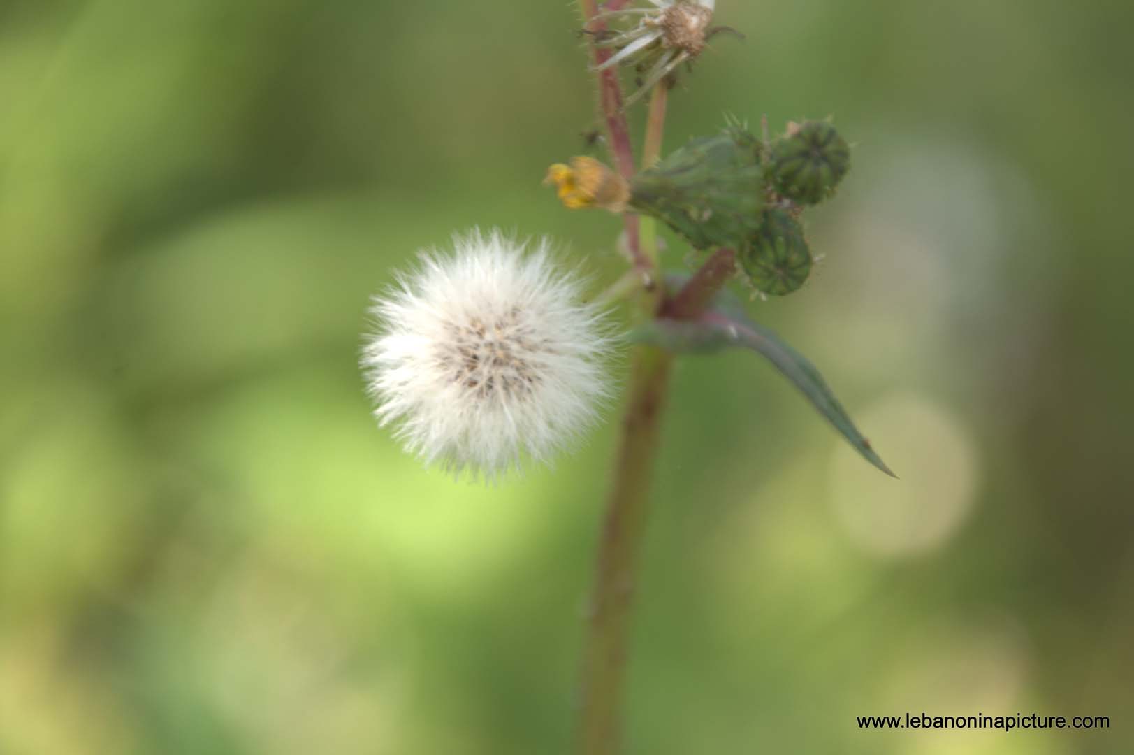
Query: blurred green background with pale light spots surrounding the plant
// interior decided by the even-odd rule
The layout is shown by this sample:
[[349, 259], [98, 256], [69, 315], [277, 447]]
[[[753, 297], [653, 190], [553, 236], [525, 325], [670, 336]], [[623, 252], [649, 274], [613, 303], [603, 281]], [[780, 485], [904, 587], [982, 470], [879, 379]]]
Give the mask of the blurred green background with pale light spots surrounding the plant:
[[[726, 112], [856, 143], [824, 265], [752, 312], [902, 479], [755, 358], [683, 361], [626, 752], [1132, 752], [1134, 5], [717, 16], [747, 40], [683, 78], [667, 148]], [[576, 27], [0, 1], [0, 753], [568, 752], [616, 413], [553, 470], [454, 483], [356, 359], [370, 294], [455, 230], [619, 272], [617, 218], [540, 186], [595, 125]], [[1110, 729], [854, 721], [906, 711]]]

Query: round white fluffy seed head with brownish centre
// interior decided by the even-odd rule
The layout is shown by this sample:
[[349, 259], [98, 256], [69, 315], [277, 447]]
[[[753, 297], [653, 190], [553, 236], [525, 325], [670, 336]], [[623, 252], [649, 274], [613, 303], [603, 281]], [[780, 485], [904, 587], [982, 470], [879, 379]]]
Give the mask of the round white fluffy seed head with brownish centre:
[[362, 364], [374, 416], [407, 451], [493, 478], [525, 454], [547, 461], [595, 419], [612, 338], [548, 241], [474, 230], [454, 245], [374, 299]]

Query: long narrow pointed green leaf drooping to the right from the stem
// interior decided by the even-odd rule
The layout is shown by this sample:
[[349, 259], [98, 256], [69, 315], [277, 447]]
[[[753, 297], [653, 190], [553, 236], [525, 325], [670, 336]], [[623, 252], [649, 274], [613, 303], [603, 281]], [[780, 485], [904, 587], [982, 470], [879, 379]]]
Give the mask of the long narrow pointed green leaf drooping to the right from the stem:
[[752, 322], [737, 312], [725, 314], [708, 312], [696, 320], [655, 319], [638, 326], [631, 339], [648, 343], [672, 352], [712, 353], [741, 346], [768, 358], [790, 380], [807, 401], [858, 450], [866, 461], [890, 477], [897, 477], [879, 458], [854, 426], [843, 404], [831, 393], [815, 366], [784, 343], [772, 330]]

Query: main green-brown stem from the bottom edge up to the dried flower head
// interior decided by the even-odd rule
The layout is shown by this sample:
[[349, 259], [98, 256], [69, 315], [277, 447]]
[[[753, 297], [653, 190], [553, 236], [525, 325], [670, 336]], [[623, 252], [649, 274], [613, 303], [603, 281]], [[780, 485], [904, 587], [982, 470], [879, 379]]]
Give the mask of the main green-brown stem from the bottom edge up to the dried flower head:
[[[653, 92], [643, 165], [657, 160], [661, 150], [667, 91], [660, 84]], [[649, 272], [657, 278], [658, 248], [652, 219], [645, 219], [643, 232], [642, 255], [649, 261]], [[657, 317], [663, 300], [663, 283], [658, 279], [643, 291], [640, 316]], [[581, 755], [618, 752], [635, 567], [645, 534], [650, 479], [671, 364], [669, 352], [645, 345], [634, 349], [629, 396], [587, 615], [578, 732]]]

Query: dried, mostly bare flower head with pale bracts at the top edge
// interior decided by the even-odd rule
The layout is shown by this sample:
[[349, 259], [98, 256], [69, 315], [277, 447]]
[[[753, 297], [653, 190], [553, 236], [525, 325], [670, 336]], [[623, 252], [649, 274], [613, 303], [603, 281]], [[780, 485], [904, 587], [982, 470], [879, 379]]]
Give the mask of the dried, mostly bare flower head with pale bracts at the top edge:
[[627, 100], [634, 103], [678, 66], [696, 58], [711, 34], [716, 0], [650, 0], [652, 8], [626, 8], [599, 14], [600, 19], [637, 17], [637, 24], [595, 42], [615, 53], [598, 70], [633, 62], [643, 73], [641, 86]]

